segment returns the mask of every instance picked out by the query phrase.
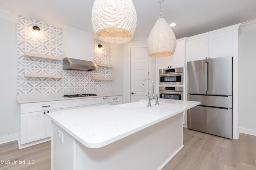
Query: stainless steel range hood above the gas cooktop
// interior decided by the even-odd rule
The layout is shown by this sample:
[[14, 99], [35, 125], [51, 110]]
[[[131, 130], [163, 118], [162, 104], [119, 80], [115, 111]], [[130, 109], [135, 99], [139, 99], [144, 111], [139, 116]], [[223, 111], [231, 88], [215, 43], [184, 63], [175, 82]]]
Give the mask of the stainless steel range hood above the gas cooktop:
[[63, 70], [92, 71], [98, 70], [98, 66], [92, 61], [84, 61], [66, 57], [63, 59]]

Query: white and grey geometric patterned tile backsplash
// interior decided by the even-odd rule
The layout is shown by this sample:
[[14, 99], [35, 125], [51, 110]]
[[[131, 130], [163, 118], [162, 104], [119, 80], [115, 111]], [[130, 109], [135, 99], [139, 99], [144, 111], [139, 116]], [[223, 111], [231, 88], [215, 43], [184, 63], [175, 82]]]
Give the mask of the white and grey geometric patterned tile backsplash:
[[[24, 52], [39, 53], [62, 57], [62, 29], [24, 16], [18, 16], [17, 24], [17, 94], [45, 94], [68, 92], [110, 91], [110, 80], [92, 80], [92, 77], [111, 77], [111, 68], [99, 67], [98, 70], [84, 72], [62, 70], [62, 61], [25, 58]], [[34, 36], [32, 27], [37, 25], [40, 32]], [[110, 49], [103, 47], [98, 39], [94, 40], [94, 62], [110, 64]], [[62, 78], [31, 78], [24, 73], [60, 74]]]

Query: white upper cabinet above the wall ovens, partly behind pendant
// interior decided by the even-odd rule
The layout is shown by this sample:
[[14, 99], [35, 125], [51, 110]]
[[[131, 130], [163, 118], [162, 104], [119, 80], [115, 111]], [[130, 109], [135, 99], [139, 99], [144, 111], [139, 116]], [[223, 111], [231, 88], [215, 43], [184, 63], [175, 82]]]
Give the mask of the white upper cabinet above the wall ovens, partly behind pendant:
[[186, 38], [177, 39], [176, 49], [173, 55], [157, 58], [157, 69], [176, 68], [185, 66], [185, 41]]

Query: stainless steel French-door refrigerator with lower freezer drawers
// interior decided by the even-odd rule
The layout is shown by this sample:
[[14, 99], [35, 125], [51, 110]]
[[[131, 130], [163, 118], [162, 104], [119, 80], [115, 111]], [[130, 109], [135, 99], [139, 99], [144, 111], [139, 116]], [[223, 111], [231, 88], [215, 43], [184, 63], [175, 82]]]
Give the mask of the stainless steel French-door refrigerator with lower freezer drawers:
[[188, 129], [232, 139], [232, 57], [187, 63]]

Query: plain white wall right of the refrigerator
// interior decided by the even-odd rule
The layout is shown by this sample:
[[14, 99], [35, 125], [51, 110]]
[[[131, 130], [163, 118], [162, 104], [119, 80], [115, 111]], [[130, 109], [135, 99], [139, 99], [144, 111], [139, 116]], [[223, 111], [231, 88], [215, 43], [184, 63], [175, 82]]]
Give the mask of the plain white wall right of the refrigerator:
[[256, 135], [256, 29], [238, 41], [238, 124], [241, 133]]

